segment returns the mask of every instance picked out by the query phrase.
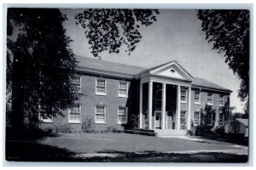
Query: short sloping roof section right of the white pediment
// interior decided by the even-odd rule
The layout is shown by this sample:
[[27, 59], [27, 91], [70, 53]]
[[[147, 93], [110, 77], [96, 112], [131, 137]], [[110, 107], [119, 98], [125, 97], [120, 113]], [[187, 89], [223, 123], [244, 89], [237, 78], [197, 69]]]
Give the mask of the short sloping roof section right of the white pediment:
[[218, 84], [209, 82], [202, 78], [196, 78], [196, 77], [194, 77], [194, 80], [192, 81], [192, 86], [203, 87], [203, 88], [213, 88], [213, 89], [219, 89], [219, 90], [231, 92], [230, 89], [228, 89], [228, 88], [223, 88], [223, 87], [219, 86]]

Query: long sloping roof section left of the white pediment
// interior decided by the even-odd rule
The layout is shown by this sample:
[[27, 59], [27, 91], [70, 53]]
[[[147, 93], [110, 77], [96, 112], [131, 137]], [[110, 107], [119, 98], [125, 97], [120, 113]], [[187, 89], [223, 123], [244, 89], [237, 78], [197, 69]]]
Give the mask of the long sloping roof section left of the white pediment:
[[110, 61], [105, 61], [102, 59], [91, 59], [88, 57], [77, 56], [80, 67], [97, 69], [102, 71], [111, 71], [116, 73], [123, 73], [129, 75], [137, 75], [141, 71], [146, 70], [146, 68], [134, 66], [134, 65], [124, 65], [119, 63], [114, 63]]

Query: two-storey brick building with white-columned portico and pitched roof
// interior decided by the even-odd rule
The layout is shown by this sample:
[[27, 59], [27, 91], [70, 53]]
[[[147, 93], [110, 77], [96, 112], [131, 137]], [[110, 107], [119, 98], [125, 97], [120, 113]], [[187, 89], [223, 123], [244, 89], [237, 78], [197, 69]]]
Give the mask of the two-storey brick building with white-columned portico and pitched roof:
[[[177, 61], [146, 69], [109, 61], [78, 57], [73, 77], [73, 91], [82, 94], [65, 116], [44, 119], [41, 126], [69, 123], [81, 131], [86, 117], [94, 120], [96, 130], [109, 126], [125, 129], [129, 116], [139, 116], [139, 127], [156, 132], [180, 132], [190, 129], [191, 122], [201, 123], [201, 109], [212, 105], [215, 118], [207, 123], [224, 122], [220, 108], [231, 91], [213, 82], [192, 77]], [[213, 119], [215, 122], [213, 122]]]

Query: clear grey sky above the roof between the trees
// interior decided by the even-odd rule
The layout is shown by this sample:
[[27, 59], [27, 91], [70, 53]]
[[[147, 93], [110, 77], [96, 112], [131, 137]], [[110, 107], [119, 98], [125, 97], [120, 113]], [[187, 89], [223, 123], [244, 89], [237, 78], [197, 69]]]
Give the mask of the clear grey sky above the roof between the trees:
[[[64, 27], [75, 55], [94, 58], [90, 54], [88, 39], [84, 36], [81, 26], [76, 26], [74, 15], [78, 9], [61, 9], [67, 14]], [[123, 48], [119, 54], [103, 52], [102, 60], [137, 65], [150, 68], [176, 60], [192, 77], [204, 78], [233, 92], [230, 94], [230, 106], [235, 111], [243, 111], [243, 104], [237, 97], [241, 81], [224, 62], [224, 54], [212, 50], [212, 43], [206, 40], [205, 32], [201, 31], [201, 21], [196, 17], [195, 10], [160, 10], [157, 21], [148, 27], [141, 27], [142, 40], [137, 48], [128, 55]]]

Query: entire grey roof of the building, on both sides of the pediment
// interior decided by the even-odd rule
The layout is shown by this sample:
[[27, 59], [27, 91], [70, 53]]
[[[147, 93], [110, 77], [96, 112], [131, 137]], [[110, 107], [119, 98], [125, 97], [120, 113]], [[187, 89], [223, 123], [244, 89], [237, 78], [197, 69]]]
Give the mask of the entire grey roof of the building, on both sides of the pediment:
[[[136, 76], [145, 71], [152, 71], [156, 68], [160, 68], [163, 65], [168, 65], [169, 63], [173, 62], [173, 61], [171, 61], [166, 64], [157, 65], [157, 66], [154, 66], [154, 67], [148, 69], [148, 68], [143, 68], [143, 67], [134, 66], [134, 65], [119, 64], [119, 63], [110, 62], [110, 61], [106, 61], [106, 60], [102, 60], [102, 59], [91, 59], [88, 57], [81, 57], [81, 56], [77, 56], [76, 58], [79, 61], [79, 64], [78, 64], [79, 68], [91, 69], [94, 71], [101, 71], [106, 74], [107, 73], [117, 73], [119, 75], [123, 74], [123, 75], [130, 75], [130, 76]], [[175, 62], [177, 63], [177, 61], [175, 61]], [[86, 71], [88, 71], [88, 70], [86, 70]], [[223, 88], [213, 82], [209, 82], [205, 79], [196, 78], [196, 77], [193, 77], [192, 86], [199, 87], [199, 88], [211, 88], [211, 89], [217, 89], [217, 90], [231, 92], [227, 88]]]

